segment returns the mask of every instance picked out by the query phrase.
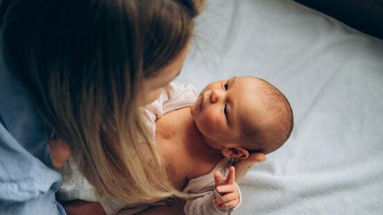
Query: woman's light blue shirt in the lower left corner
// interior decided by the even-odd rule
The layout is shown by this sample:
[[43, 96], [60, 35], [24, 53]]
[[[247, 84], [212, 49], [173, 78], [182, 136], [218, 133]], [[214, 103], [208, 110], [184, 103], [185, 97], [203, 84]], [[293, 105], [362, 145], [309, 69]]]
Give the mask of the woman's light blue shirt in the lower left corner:
[[65, 214], [55, 192], [50, 131], [0, 56], [0, 214]]

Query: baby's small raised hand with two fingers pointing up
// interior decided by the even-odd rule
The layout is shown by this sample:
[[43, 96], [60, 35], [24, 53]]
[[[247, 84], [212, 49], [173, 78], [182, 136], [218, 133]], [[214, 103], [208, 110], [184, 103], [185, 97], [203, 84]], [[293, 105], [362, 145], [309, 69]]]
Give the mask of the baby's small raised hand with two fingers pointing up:
[[235, 168], [230, 167], [228, 177], [223, 180], [219, 171], [214, 172], [215, 188], [220, 198], [213, 200], [213, 204], [219, 208], [232, 208], [239, 204], [239, 191], [234, 182]]

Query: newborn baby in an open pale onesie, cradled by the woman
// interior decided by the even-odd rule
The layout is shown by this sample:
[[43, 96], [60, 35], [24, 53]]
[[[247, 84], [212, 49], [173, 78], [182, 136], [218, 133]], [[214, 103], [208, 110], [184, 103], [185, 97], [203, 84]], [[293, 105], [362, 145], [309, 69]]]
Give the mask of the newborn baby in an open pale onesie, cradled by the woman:
[[[188, 194], [185, 214], [231, 214], [241, 202], [233, 162], [275, 151], [293, 129], [286, 97], [255, 77], [212, 82], [199, 95], [191, 85], [171, 83], [146, 112], [173, 185]], [[107, 214], [126, 208], [119, 200], [99, 202]]]

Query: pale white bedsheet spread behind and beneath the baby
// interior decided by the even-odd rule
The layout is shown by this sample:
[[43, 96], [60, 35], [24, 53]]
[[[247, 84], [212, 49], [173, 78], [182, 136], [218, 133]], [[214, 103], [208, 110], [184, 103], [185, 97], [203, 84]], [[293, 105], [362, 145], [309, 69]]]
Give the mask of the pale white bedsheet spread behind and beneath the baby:
[[383, 214], [383, 41], [288, 0], [208, 0], [197, 22], [176, 82], [261, 77], [294, 113], [235, 214]]

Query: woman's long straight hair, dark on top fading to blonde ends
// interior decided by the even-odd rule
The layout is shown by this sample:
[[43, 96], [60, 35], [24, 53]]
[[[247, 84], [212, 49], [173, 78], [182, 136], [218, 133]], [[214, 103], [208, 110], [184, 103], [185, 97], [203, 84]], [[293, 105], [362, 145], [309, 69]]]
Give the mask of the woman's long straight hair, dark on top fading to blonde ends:
[[3, 0], [1, 48], [44, 122], [99, 191], [128, 204], [174, 189], [137, 94], [189, 41], [203, 0]]

